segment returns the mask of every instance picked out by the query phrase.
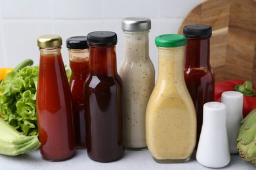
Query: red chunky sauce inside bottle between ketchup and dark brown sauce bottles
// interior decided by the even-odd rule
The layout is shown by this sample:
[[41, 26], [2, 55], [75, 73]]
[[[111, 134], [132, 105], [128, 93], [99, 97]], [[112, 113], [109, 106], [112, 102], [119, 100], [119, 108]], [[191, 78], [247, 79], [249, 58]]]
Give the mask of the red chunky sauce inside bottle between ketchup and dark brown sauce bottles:
[[89, 58], [75, 58], [70, 60], [70, 68], [72, 69], [70, 90], [72, 93], [75, 120], [75, 146], [86, 147], [83, 85], [89, 75]]

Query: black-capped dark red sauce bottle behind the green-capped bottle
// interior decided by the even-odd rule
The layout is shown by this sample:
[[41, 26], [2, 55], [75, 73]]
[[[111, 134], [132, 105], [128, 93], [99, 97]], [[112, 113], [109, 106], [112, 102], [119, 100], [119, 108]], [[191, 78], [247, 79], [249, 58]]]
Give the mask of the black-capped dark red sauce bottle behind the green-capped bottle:
[[196, 108], [197, 147], [203, 123], [203, 105], [214, 100], [215, 73], [210, 65], [209, 48], [211, 26], [186, 25], [183, 34], [187, 41], [184, 56], [184, 77], [186, 87]]

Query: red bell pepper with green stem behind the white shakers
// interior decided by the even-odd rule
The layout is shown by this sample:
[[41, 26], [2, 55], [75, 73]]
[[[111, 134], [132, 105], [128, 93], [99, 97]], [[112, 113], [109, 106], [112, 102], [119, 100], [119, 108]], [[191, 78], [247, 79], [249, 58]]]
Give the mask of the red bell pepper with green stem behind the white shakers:
[[215, 84], [214, 100], [221, 102], [221, 94], [226, 91], [238, 91], [243, 93], [243, 117], [247, 116], [251, 110], [256, 109], [255, 86], [249, 81], [227, 80]]

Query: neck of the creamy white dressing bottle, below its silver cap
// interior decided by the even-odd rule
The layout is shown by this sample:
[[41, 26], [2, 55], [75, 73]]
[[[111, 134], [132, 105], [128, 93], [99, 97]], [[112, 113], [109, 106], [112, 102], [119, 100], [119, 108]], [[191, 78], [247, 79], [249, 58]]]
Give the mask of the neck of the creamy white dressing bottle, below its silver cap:
[[144, 61], [149, 58], [149, 31], [123, 31], [125, 34], [125, 58], [129, 61]]

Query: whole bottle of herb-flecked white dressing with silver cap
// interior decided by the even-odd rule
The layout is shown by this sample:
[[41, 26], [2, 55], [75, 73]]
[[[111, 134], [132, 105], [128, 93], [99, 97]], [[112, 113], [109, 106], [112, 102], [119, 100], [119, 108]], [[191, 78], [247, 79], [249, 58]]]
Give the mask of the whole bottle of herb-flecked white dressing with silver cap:
[[125, 54], [119, 69], [123, 80], [125, 148], [141, 150], [146, 146], [146, 105], [155, 86], [155, 69], [148, 52], [148, 18], [125, 18]]

